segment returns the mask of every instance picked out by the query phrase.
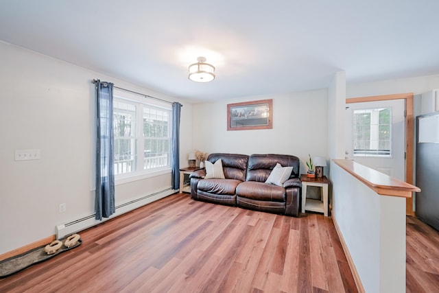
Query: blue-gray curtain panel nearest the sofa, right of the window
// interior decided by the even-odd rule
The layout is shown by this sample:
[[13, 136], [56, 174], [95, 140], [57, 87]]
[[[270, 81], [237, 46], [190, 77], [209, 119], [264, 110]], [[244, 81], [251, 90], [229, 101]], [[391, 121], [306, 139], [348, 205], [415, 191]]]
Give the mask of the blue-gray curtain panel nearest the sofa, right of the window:
[[172, 146], [171, 146], [171, 166], [172, 166], [172, 189], [180, 188], [180, 110], [181, 104], [172, 103]]

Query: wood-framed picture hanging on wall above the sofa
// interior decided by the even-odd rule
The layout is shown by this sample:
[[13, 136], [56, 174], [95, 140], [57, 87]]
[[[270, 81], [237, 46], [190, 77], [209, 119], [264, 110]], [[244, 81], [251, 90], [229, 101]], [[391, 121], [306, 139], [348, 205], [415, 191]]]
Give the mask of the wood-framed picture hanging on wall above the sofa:
[[227, 105], [227, 130], [273, 128], [273, 100], [242, 102]]

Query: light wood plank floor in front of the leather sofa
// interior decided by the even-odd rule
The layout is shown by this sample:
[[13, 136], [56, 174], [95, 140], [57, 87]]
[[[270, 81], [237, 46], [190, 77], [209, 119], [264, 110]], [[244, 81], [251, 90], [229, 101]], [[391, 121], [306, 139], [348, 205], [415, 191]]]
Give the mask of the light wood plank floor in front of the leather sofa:
[[331, 218], [176, 194], [80, 233], [0, 292], [357, 292]]

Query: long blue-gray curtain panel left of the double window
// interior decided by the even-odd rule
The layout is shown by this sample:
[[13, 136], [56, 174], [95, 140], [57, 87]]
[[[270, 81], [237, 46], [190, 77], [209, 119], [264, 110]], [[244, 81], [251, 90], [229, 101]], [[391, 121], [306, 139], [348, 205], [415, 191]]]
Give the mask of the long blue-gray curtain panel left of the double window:
[[96, 139], [96, 219], [115, 213], [114, 135], [112, 124], [112, 87], [97, 80]]

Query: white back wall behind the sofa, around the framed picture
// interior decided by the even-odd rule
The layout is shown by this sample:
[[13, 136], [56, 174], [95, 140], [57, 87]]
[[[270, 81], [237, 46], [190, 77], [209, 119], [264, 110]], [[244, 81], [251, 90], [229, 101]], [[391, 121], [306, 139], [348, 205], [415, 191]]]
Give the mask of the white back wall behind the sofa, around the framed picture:
[[[273, 129], [227, 131], [227, 104], [273, 99]], [[193, 147], [203, 152], [327, 156], [327, 89], [193, 105]]]

